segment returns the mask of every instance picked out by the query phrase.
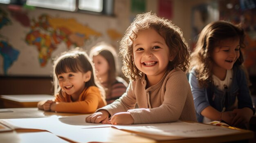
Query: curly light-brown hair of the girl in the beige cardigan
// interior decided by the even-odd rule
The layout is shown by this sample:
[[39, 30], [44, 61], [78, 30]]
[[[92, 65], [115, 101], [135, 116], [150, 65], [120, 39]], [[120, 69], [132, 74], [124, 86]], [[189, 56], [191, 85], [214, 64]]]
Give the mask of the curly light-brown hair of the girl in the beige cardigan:
[[159, 35], [164, 37], [166, 45], [174, 57], [173, 61], [169, 62], [167, 69], [180, 68], [186, 72], [190, 64], [190, 51], [181, 29], [172, 24], [171, 21], [159, 18], [155, 13], [148, 12], [137, 15], [120, 42], [119, 54], [124, 59], [122, 67], [124, 75], [132, 81], [142, 77], [142, 72], [139, 71], [134, 63], [132, 45], [140, 30], [150, 28], [155, 29]]

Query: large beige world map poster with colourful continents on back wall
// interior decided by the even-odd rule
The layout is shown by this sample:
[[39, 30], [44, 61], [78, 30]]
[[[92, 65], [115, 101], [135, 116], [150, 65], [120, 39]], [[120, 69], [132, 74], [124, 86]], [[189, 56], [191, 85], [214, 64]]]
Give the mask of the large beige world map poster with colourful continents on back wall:
[[117, 23], [104, 21], [110, 26], [82, 13], [0, 7], [0, 76], [48, 77], [53, 59], [64, 51], [81, 47], [89, 52], [101, 41], [118, 46]]

